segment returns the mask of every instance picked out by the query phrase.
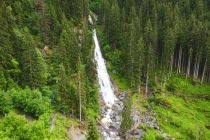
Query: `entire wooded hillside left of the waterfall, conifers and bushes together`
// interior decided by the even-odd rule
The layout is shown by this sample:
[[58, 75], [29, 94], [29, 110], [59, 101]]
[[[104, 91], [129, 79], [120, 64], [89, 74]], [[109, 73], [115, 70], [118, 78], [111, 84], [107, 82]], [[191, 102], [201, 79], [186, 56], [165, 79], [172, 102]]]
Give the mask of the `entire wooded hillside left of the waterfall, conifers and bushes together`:
[[69, 139], [50, 133], [53, 112], [97, 115], [88, 12], [86, 0], [0, 1], [0, 138]]

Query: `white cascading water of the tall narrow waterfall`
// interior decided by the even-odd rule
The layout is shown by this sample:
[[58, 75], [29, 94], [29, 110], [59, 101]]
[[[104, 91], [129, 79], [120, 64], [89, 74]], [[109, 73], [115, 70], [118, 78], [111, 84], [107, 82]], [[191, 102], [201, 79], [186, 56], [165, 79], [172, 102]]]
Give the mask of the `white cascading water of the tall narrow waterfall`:
[[[89, 16], [89, 21], [92, 24], [92, 19]], [[108, 109], [106, 110], [106, 116], [102, 118], [102, 123], [106, 127], [106, 129], [109, 129], [109, 125], [112, 123], [112, 120], [110, 118], [110, 113], [112, 112], [112, 106], [115, 103], [116, 100], [118, 100], [114, 94], [114, 91], [112, 89], [112, 83], [109, 77], [109, 74], [107, 72], [106, 64], [104, 61], [104, 58], [102, 56], [98, 38], [96, 35], [96, 30], [93, 30], [93, 39], [95, 43], [95, 62], [96, 62], [96, 68], [97, 68], [97, 73], [98, 73], [98, 83], [100, 86], [100, 93], [101, 96], [106, 103], [106, 106]], [[117, 140], [119, 137], [116, 136], [114, 132], [103, 132], [103, 135], [105, 137], [105, 140]]]

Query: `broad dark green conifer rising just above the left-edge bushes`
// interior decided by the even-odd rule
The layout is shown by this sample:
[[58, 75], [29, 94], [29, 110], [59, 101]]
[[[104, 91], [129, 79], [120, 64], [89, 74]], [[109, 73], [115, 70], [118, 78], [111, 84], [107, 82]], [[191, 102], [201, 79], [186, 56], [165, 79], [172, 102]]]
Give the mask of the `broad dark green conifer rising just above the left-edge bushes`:
[[20, 65], [23, 85], [31, 88], [44, 85], [47, 79], [47, 68], [41, 52], [35, 47], [34, 40], [27, 28], [21, 31], [15, 30], [15, 33], [22, 51]]

